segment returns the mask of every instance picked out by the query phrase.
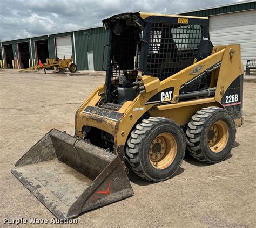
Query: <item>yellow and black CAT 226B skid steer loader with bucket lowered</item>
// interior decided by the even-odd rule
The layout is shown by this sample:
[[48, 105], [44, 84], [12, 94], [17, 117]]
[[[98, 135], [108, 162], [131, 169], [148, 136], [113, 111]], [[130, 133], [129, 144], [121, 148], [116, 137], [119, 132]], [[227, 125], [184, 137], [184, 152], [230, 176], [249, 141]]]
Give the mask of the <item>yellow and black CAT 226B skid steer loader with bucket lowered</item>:
[[186, 149], [223, 161], [242, 125], [240, 45], [213, 47], [208, 18], [137, 12], [103, 25], [105, 84], [77, 110], [75, 136], [49, 131], [12, 169], [62, 219], [131, 196], [127, 167], [158, 182]]

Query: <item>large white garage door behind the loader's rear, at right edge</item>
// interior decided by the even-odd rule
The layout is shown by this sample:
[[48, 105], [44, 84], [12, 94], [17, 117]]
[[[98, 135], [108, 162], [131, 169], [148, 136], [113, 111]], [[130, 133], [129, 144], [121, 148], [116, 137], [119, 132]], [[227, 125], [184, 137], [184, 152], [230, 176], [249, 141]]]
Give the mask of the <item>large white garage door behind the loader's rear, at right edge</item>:
[[256, 10], [210, 16], [213, 45], [241, 44], [241, 60], [256, 59]]

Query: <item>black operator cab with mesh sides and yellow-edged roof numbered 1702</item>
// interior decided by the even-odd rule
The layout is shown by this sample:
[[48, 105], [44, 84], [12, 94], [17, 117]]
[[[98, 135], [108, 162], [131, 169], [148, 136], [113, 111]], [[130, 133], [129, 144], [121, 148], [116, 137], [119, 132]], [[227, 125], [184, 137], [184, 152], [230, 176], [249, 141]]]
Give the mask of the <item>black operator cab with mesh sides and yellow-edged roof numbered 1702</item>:
[[[208, 18], [123, 13], [103, 20], [110, 30], [104, 102], [132, 101], [132, 83], [142, 75], [167, 79], [211, 54]], [[201, 89], [210, 84], [210, 76]], [[187, 91], [200, 90], [195, 82]]]

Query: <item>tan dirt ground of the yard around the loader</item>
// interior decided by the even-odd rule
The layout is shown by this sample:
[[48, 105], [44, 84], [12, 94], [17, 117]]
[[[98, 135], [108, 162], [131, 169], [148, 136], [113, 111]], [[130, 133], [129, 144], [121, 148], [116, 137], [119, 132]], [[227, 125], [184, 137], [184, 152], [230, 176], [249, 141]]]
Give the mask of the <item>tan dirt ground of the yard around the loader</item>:
[[[186, 155], [178, 174], [160, 183], [130, 173], [132, 197], [84, 213], [76, 226], [255, 227], [255, 82], [256, 76], [244, 81], [245, 122], [230, 158], [205, 165]], [[54, 217], [10, 170], [53, 127], [73, 134], [76, 110], [103, 83], [104, 74], [97, 72], [67, 76], [0, 69], [0, 227], [4, 217]]]

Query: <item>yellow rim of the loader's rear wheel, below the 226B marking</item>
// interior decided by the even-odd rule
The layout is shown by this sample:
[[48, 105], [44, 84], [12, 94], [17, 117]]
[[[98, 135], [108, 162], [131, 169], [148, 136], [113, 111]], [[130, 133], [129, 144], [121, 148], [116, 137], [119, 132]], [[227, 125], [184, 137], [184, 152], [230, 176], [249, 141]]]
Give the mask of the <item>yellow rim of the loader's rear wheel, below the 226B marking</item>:
[[208, 146], [213, 153], [221, 152], [228, 142], [228, 127], [225, 122], [219, 120], [215, 122], [208, 130]]

